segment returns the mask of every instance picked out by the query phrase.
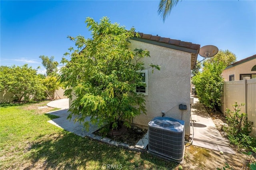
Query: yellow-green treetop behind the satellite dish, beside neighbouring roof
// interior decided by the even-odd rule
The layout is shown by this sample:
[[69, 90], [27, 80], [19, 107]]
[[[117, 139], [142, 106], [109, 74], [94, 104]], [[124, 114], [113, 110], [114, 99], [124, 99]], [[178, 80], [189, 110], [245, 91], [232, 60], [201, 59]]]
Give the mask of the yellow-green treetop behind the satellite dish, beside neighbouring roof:
[[213, 63], [216, 61], [222, 62], [225, 66], [228, 66], [236, 62], [236, 55], [229, 50], [220, 50], [214, 57], [207, 59], [205, 62]]

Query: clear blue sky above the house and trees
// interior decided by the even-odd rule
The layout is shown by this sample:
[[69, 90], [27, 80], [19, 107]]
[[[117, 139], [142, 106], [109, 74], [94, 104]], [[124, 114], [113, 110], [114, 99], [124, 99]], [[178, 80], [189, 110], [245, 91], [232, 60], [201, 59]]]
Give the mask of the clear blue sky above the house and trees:
[[[0, 64], [29, 66], [44, 73], [40, 55], [60, 62], [74, 43], [90, 38], [86, 17], [108, 16], [127, 29], [230, 50], [238, 60], [256, 54], [256, 1], [183, 0], [165, 22], [152, 1], [0, 1]], [[198, 57], [198, 59], [202, 59]]]

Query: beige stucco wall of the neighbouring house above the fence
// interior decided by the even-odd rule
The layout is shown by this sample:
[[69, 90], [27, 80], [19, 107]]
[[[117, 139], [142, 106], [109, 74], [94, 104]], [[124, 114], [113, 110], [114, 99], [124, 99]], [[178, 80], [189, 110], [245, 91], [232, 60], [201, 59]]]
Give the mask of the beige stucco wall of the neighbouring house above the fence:
[[238, 64], [231, 68], [223, 70], [222, 77], [229, 81], [229, 76], [234, 74], [235, 80], [240, 80], [240, 74], [256, 74], [256, 71], [251, 71], [252, 67], [256, 65], [256, 59]]

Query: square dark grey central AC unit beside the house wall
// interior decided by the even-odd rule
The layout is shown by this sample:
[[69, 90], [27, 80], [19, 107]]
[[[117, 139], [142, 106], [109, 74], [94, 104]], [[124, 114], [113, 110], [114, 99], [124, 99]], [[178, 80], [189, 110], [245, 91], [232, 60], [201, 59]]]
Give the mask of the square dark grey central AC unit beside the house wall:
[[182, 160], [184, 154], [184, 121], [155, 117], [148, 123], [148, 150], [161, 157]]

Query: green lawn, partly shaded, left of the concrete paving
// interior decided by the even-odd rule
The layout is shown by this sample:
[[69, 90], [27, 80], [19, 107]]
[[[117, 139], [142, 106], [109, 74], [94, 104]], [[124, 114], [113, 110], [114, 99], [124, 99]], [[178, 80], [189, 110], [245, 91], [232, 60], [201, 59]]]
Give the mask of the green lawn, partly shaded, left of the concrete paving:
[[[149, 153], [99, 143], [60, 129], [40, 113], [47, 102], [0, 106], [1, 169], [174, 169], [178, 164]], [[54, 110], [54, 109], [53, 109]], [[51, 110], [49, 110], [51, 111]]]

